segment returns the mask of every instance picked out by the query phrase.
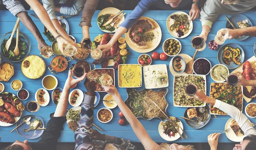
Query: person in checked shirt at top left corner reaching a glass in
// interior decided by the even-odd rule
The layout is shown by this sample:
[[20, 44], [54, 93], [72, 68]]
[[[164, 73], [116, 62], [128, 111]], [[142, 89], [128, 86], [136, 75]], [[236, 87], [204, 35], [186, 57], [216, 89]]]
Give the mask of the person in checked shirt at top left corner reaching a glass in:
[[48, 46], [44, 42], [44, 38], [42, 37], [40, 31], [36, 27], [33, 20], [29, 17], [27, 11], [24, 6], [20, 3], [19, 0], [0, 0], [3, 1], [3, 5], [6, 6], [7, 9], [16, 17], [20, 18], [20, 21], [26, 26], [26, 28], [34, 35], [35, 40], [38, 42], [38, 49], [41, 49], [45, 46]]

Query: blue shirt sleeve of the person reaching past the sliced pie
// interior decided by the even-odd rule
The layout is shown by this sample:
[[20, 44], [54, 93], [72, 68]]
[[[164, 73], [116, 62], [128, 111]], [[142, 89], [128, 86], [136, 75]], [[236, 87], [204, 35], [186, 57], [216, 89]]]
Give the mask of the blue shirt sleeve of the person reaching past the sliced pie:
[[146, 10], [154, 3], [157, 3], [158, 0], [141, 0], [138, 5], [134, 8], [134, 10], [128, 14], [125, 18], [125, 21], [120, 25], [129, 30], [131, 26], [133, 26], [137, 20], [145, 13]]

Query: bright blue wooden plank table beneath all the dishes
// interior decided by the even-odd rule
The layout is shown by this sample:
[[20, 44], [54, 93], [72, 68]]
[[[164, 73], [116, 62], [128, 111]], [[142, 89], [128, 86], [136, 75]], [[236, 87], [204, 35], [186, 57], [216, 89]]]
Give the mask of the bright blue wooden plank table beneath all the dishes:
[[[94, 39], [94, 37], [96, 37], [98, 34], [103, 34], [103, 32], [98, 28], [98, 25], [96, 23], [96, 18], [98, 16], [99, 12], [100, 11], [96, 11], [95, 14], [93, 15], [93, 19], [92, 19], [93, 27], [90, 28], [91, 39]], [[129, 14], [131, 11], [125, 11], [125, 12], [127, 14]], [[175, 11], [146, 11], [146, 13], [143, 15], [146, 17], [151, 17], [152, 19], [157, 21], [157, 23], [161, 27], [162, 34], [163, 34], [162, 40], [160, 42], [160, 45], [158, 45], [158, 47], [154, 50], [154, 51], [157, 51], [159, 54], [163, 52], [162, 45], [163, 45], [164, 40], [172, 37], [172, 35], [169, 34], [169, 32], [166, 28], [166, 19], [173, 12], [175, 12]], [[29, 14], [30, 13], [35, 14], [33, 11], [29, 11]], [[189, 13], [189, 11], [186, 11], [186, 13]], [[9, 11], [0, 11], [0, 14], [1, 14], [0, 15], [0, 37], [3, 37], [4, 34], [12, 31], [17, 18], [14, 17]], [[254, 26], [256, 25], [255, 11], [248, 11], [243, 14], [250, 19], [250, 21], [253, 23]], [[41, 21], [39, 19], [34, 18], [34, 17], [32, 17], [32, 20], [34, 20], [35, 24], [38, 26], [41, 34], [43, 35], [43, 31], [44, 31], [43, 23], [41, 23]], [[76, 38], [77, 42], [80, 42], [81, 38], [82, 38], [81, 27], [79, 26], [80, 20], [81, 20], [81, 14], [79, 16], [70, 17], [67, 19], [67, 22], [69, 23], [69, 26], [70, 26], [70, 35], [73, 35]], [[210, 40], [214, 39], [216, 32], [219, 29], [225, 28], [226, 22], [227, 22], [227, 20], [225, 19], [224, 15], [221, 15], [221, 17], [218, 18], [218, 20], [212, 25], [212, 30], [209, 33], [207, 43]], [[188, 37], [186, 37], [184, 39], [179, 39], [182, 44], [182, 50], [180, 53], [189, 54], [191, 57], [195, 53], [195, 50], [191, 46], [191, 38], [194, 37], [195, 35], [199, 35], [201, 33], [201, 22], [199, 21], [199, 19], [196, 19], [195, 21], [193, 21], [193, 26], [194, 26], [193, 31]], [[32, 54], [39, 55], [37, 41], [35, 40], [33, 35], [29, 32], [29, 30], [26, 29], [26, 27], [22, 23], [20, 24], [20, 32], [25, 34], [30, 40], [30, 43], [31, 43], [30, 55], [32, 55]], [[45, 40], [47, 40], [47, 38], [44, 35], [43, 35], [43, 37]], [[256, 41], [256, 37], [249, 37], [245, 41], [227, 40], [224, 44], [227, 44], [227, 43], [239, 44], [243, 48], [244, 53], [245, 53], [245, 60], [247, 60], [253, 56], [253, 45], [254, 45], [255, 41]], [[49, 42], [47, 40], [47, 44], [51, 45], [51, 42]], [[140, 53], [137, 53], [131, 49], [129, 49], [129, 50], [131, 52], [131, 55], [129, 55], [127, 63], [137, 62], [137, 58], [139, 57]], [[154, 52], [154, 51], [152, 51], [152, 52]], [[148, 54], [151, 55], [152, 52], [150, 52]], [[213, 65], [218, 64], [217, 53], [218, 53], [218, 51], [211, 51], [207, 47], [207, 48], [205, 48], [204, 51], [198, 52], [196, 58], [200, 58], [200, 57], [207, 58], [213, 66]], [[91, 57], [88, 57], [85, 60], [87, 62], [91, 62], [91, 59], [92, 59]], [[165, 61], [162, 61], [160, 59], [153, 60], [152, 65], [155, 65], [155, 64], [166, 64], [167, 65], [168, 74], [169, 74], [169, 87], [168, 87], [169, 92], [167, 94], [167, 102], [169, 103], [169, 107], [167, 109], [167, 112], [169, 113], [170, 116], [175, 116], [175, 117], [180, 118], [180, 116], [183, 116], [186, 108], [177, 108], [177, 107], [173, 106], [173, 89], [172, 89], [173, 76], [169, 71], [169, 62], [171, 59], [172, 59], [172, 57], [168, 57], [168, 59]], [[48, 66], [50, 64], [51, 59], [44, 59], [44, 60], [46, 62], [46, 65]], [[3, 61], [5, 61], [5, 60], [3, 59], [2, 62]], [[69, 68], [71, 66], [71, 64], [73, 64], [73, 63], [75, 63], [75, 62], [74, 61], [69, 62], [67, 68]], [[20, 71], [20, 62], [12, 63], [12, 64], [14, 65], [14, 68], [15, 68], [15, 75], [12, 76], [12, 78], [9, 80], [9, 82], [3, 82], [3, 84], [5, 85], [5, 91], [17, 94], [17, 91], [12, 90], [10, 83], [14, 79], [20, 79], [23, 82], [23, 88], [26, 88], [30, 94], [29, 98], [25, 102], [23, 101], [23, 103], [26, 103], [31, 100], [35, 100], [34, 99], [35, 92], [39, 88], [43, 88], [42, 84], [41, 84], [42, 78], [45, 75], [51, 74], [51, 72], [47, 69], [47, 71], [45, 72], [43, 77], [41, 77], [39, 79], [34, 79], [34, 80], [28, 79], [25, 76], [23, 76], [23, 74]], [[101, 68], [101, 65], [97, 65], [96, 68]], [[63, 88], [64, 82], [67, 78], [67, 72], [68, 72], [68, 70], [55, 75], [58, 79], [58, 87]], [[115, 71], [115, 75], [116, 75], [116, 88], [118, 89], [119, 93], [121, 94], [122, 99], [125, 100], [127, 98], [126, 88], [118, 87], [117, 71]], [[213, 82], [211, 76], [207, 75], [207, 95], [208, 96], [209, 96], [209, 89], [210, 89], [211, 82]], [[79, 83], [76, 88], [79, 88], [84, 92], [86, 91], [82, 82]], [[144, 88], [144, 81], [143, 81], [143, 87], [140, 89], [143, 89], [143, 88]], [[51, 94], [52, 91], [49, 91], [49, 93]], [[103, 98], [103, 96], [105, 96], [105, 94], [106, 94], [105, 92], [100, 93], [101, 98]], [[256, 100], [253, 100], [253, 101], [255, 102]], [[247, 105], [247, 102], [244, 101], [244, 108], [246, 105]], [[104, 107], [103, 103], [99, 102], [99, 105], [94, 109], [94, 116], [96, 116], [97, 111], [103, 107]], [[72, 108], [71, 105], [68, 106], [68, 109], [70, 109], [70, 108]], [[244, 113], [244, 108], [243, 108], [243, 113]], [[33, 113], [33, 114], [41, 116], [41, 118], [44, 120], [44, 123], [46, 124], [49, 121], [49, 114], [53, 113], [54, 111], [55, 111], [55, 105], [53, 104], [52, 100], [50, 100], [49, 105], [47, 105], [46, 107], [41, 107], [38, 112]], [[94, 119], [93, 119], [94, 124], [103, 129], [102, 133], [112, 135], [112, 136], [122, 137], [122, 138], [125, 138], [128, 140], [131, 140], [132, 142], [139, 142], [139, 140], [137, 139], [136, 135], [134, 134], [131, 126], [128, 123], [125, 126], [121, 126], [118, 124], [118, 120], [119, 120], [118, 113], [120, 111], [119, 108], [118, 107], [114, 108], [112, 111], [113, 111], [113, 120], [111, 122], [104, 124], [104, 123], [99, 122], [98, 119], [96, 117], [94, 117]], [[27, 114], [31, 114], [31, 113], [29, 113], [27, 110], [24, 110], [22, 116], [27, 115]], [[217, 118], [214, 118], [214, 116], [211, 116], [209, 123], [205, 127], [201, 128], [199, 130], [195, 130], [192, 127], [189, 127], [186, 124], [186, 122], [183, 119], [181, 119], [181, 122], [183, 123], [184, 130], [188, 136], [188, 139], [184, 139], [184, 140], [178, 139], [175, 142], [207, 142], [207, 136], [209, 134], [215, 133], [215, 132], [222, 132], [224, 130], [224, 126], [228, 119], [230, 119], [230, 116], [217, 116]], [[150, 137], [155, 142], [167, 142], [164, 139], [162, 139], [158, 133], [158, 125], [159, 125], [160, 119], [152, 119], [150, 121], [145, 121], [143, 119], [139, 119], [139, 120], [143, 124], [145, 129], [147, 130]], [[256, 119], [249, 119], [249, 120], [253, 123], [256, 123]], [[16, 127], [16, 124], [9, 126], [9, 127], [0, 127], [0, 137], [1, 137], [0, 142], [12, 142], [13, 140], [20, 140], [20, 141], [25, 140], [23, 137], [19, 136], [16, 131], [13, 133], [10, 132], [14, 127]], [[29, 142], [37, 142], [38, 140], [40, 140], [40, 138], [29, 140]], [[75, 141], [74, 140], [74, 132], [68, 128], [66, 123], [64, 124], [64, 130], [62, 131], [61, 137], [58, 141], [59, 142], [74, 142]], [[221, 134], [221, 136], [219, 138], [219, 142], [231, 142], [231, 141], [226, 137], [225, 134]]]

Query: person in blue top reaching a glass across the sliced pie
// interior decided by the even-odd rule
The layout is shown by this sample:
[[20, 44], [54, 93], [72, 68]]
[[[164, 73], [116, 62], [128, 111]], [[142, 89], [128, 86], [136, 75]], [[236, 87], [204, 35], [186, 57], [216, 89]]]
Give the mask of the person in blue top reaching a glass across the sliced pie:
[[191, 10], [189, 11], [189, 16], [190, 20], [195, 20], [195, 18], [198, 18], [200, 13], [198, 1], [199, 0], [141, 0], [135, 9], [127, 15], [125, 21], [118, 27], [116, 33], [113, 35], [108, 44], [98, 45], [98, 48], [101, 49], [102, 52], [109, 51], [119, 37], [125, 34], [125, 32], [128, 31], [129, 28], [131, 28], [152, 5], [156, 5], [157, 7], [165, 10], [183, 10], [188, 6], [192, 6]]

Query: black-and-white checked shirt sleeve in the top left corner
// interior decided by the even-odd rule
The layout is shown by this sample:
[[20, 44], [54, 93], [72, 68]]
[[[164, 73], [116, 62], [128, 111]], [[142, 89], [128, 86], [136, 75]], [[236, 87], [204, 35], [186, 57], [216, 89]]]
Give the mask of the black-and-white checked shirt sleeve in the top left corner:
[[26, 12], [24, 6], [20, 3], [19, 0], [3, 0], [3, 5], [14, 15], [16, 16], [20, 12]]

